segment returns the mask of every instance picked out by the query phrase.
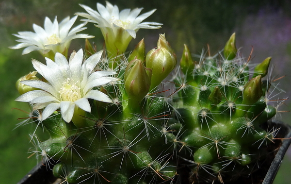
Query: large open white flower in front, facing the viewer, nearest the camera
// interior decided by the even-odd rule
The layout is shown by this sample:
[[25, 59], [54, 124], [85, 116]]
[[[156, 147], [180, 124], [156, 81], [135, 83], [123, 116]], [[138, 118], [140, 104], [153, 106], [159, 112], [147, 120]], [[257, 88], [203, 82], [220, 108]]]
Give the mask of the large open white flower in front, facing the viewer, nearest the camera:
[[21, 83], [40, 90], [29, 91], [18, 97], [16, 101], [30, 102], [34, 104], [34, 110], [45, 108], [42, 120], [60, 108], [66, 122], [72, 120], [74, 112], [79, 108], [87, 112], [91, 111], [88, 99], [113, 102], [106, 94], [93, 89], [117, 80], [109, 77], [115, 72], [92, 72], [99, 62], [101, 54], [102, 50], [89, 57], [83, 64], [82, 49], [77, 53], [73, 52], [69, 62], [59, 52], [55, 55], [55, 62], [46, 58], [47, 65], [32, 59], [33, 67], [48, 83], [39, 80], [22, 81]]

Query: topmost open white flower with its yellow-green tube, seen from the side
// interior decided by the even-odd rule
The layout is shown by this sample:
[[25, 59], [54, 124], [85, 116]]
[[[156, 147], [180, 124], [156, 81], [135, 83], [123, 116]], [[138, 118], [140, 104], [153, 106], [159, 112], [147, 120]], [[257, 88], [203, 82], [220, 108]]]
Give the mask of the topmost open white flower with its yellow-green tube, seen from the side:
[[88, 14], [76, 13], [76, 15], [87, 18], [82, 19], [82, 21], [96, 23], [95, 26], [101, 29], [104, 36], [107, 50], [112, 51], [113, 54], [116, 53], [117, 49], [119, 53], [124, 53], [130, 40], [136, 37], [136, 32], [139, 29], [159, 29], [162, 25], [157, 22], [141, 23], [152, 15], [156, 11], [155, 9], [138, 16], [143, 8], [135, 8], [132, 11], [124, 9], [119, 12], [118, 7], [113, 6], [108, 1], [106, 1], [106, 7], [97, 3], [98, 12], [86, 5], [80, 4], [80, 6]]

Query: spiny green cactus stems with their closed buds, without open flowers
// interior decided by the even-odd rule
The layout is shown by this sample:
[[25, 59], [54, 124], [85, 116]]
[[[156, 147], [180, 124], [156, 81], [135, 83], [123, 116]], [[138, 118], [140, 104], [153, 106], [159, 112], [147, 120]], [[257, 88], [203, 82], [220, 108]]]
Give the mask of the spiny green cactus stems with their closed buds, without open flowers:
[[[84, 60], [96, 52], [86, 39]], [[284, 101], [271, 104], [277, 89], [270, 61], [250, 64], [237, 51], [235, 34], [213, 56], [194, 58], [185, 45], [179, 65], [164, 34], [147, 53], [144, 40], [129, 56], [109, 58], [104, 51], [94, 71], [114, 71], [117, 80], [96, 89], [112, 102], [89, 99], [91, 112], [75, 108], [71, 122], [59, 110], [43, 120], [43, 110], [34, 109], [49, 139], [31, 134], [30, 152], [44, 165], [58, 161], [53, 174], [68, 184], [219, 184], [251, 177], [278, 131], [261, 124]], [[17, 82], [21, 94], [35, 90], [20, 82], [41, 80], [35, 75]]]

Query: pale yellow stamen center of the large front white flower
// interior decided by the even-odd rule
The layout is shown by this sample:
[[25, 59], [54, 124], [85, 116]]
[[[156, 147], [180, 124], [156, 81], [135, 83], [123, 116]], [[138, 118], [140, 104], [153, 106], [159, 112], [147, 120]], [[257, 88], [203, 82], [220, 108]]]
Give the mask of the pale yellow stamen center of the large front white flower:
[[80, 87], [74, 83], [73, 79], [67, 78], [59, 93], [62, 101], [76, 101], [82, 98]]

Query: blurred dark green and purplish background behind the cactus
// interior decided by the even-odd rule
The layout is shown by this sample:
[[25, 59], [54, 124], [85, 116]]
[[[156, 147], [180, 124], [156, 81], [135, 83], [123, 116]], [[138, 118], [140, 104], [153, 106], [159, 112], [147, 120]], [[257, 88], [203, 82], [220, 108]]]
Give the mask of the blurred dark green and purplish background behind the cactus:
[[[43, 27], [45, 17], [58, 20], [75, 12], [84, 12], [79, 3], [96, 9], [95, 0], [0, 0], [0, 183], [16, 184], [37, 161], [35, 157], [27, 158], [29, 133], [35, 125], [26, 125], [13, 130], [19, 117], [28, 115], [20, 110], [29, 110], [25, 103], [14, 101], [17, 97], [16, 80], [32, 71], [31, 58], [44, 61], [37, 51], [21, 55], [22, 50], [11, 50], [9, 46], [17, 44], [12, 33], [33, 31], [32, 24]], [[99, 1], [105, 4], [105, 1]], [[186, 43], [193, 54], [201, 53], [202, 48], [210, 45], [214, 54], [223, 49], [224, 44], [236, 32], [237, 47], [247, 58], [252, 48], [252, 62], [259, 63], [272, 56], [275, 66], [274, 76], [287, 75], [280, 81], [280, 87], [286, 90], [278, 98], [291, 96], [291, 2], [289, 0], [111, 0], [121, 9], [144, 7], [145, 13], [156, 8], [157, 11], [146, 21], [163, 23], [160, 30], [140, 30], [136, 40], [132, 40], [129, 49], [133, 49], [143, 37], [146, 51], [156, 47], [159, 33], [166, 33], [166, 38], [176, 50], [178, 59]], [[80, 18], [78, 19], [80, 20]], [[79, 24], [77, 22], [75, 25]], [[101, 32], [87, 24], [89, 33], [96, 37], [91, 39], [97, 49], [103, 47]], [[83, 47], [84, 40], [74, 40], [71, 50]], [[290, 100], [289, 100], [290, 101]], [[290, 110], [290, 102], [280, 110]], [[281, 113], [277, 119], [290, 123], [290, 113]], [[38, 134], [42, 131], [39, 130]], [[291, 150], [284, 158], [274, 184], [289, 184]]]

